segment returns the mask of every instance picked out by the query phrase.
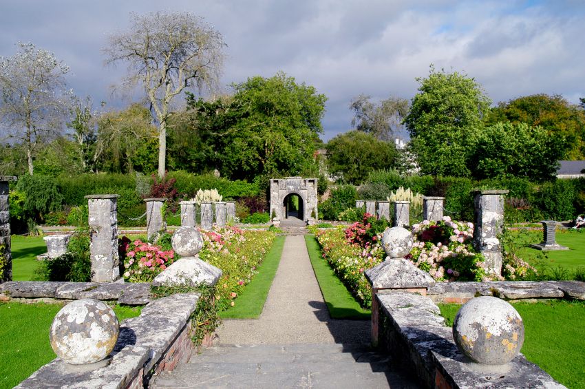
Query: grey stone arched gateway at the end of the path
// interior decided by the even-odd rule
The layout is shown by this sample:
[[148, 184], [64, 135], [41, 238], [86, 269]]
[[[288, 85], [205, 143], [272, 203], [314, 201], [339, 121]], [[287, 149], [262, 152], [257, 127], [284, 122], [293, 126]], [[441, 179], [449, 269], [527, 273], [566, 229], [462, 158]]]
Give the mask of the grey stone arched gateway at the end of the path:
[[291, 218], [307, 224], [317, 220], [317, 178], [270, 180], [270, 217], [275, 224]]

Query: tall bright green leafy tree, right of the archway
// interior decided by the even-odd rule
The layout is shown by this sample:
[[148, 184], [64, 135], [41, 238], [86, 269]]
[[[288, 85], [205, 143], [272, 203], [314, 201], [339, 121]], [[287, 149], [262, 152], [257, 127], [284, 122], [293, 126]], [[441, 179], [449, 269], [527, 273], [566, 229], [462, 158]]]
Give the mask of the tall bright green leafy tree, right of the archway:
[[436, 72], [416, 78], [421, 85], [404, 123], [421, 173], [469, 176], [467, 159], [491, 100], [474, 78]]

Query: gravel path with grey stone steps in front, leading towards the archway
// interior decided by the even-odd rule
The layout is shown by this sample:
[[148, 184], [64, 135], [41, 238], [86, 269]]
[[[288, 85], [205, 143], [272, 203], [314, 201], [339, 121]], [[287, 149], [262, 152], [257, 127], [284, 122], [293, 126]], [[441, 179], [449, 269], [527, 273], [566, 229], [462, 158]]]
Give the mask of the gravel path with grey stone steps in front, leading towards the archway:
[[220, 344], [151, 388], [416, 388], [368, 345], [370, 322], [334, 320], [302, 235], [289, 235], [257, 320], [226, 319]]

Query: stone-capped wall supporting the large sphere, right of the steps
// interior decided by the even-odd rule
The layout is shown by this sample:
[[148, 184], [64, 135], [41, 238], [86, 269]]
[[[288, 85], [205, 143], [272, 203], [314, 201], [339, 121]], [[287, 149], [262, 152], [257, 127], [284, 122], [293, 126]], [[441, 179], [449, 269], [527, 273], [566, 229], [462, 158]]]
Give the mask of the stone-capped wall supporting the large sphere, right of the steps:
[[520, 354], [509, 371], [485, 370], [458, 350], [451, 328], [429, 297], [405, 292], [377, 294], [380, 345], [397, 367], [426, 388], [564, 388]]

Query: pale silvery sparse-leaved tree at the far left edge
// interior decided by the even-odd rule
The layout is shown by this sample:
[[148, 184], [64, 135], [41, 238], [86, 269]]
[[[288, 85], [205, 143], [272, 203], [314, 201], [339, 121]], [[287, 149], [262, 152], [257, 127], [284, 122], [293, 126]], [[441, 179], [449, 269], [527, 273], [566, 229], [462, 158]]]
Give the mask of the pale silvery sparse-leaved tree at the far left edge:
[[23, 143], [28, 173], [37, 147], [63, 131], [71, 91], [69, 67], [47, 50], [19, 43], [19, 52], [0, 59], [0, 119], [8, 136]]

